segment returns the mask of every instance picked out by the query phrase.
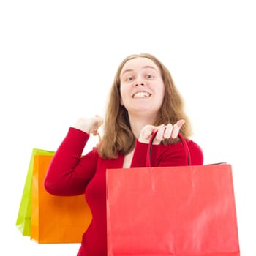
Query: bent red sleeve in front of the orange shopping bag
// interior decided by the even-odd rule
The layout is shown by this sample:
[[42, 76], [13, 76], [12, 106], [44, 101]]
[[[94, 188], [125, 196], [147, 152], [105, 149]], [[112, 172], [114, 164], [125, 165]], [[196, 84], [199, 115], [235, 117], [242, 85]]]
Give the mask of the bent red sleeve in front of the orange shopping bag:
[[92, 150], [81, 157], [89, 139], [86, 132], [69, 128], [54, 154], [45, 176], [45, 189], [53, 195], [80, 195], [94, 176], [98, 153]]

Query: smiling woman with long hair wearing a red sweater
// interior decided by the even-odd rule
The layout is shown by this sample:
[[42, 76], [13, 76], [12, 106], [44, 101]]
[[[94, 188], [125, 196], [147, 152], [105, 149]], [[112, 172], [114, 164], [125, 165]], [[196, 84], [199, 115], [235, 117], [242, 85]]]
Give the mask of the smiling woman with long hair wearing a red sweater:
[[102, 141], [81, 157], [89, 136], [95, 135], [102, 124], [100, 116], [78, 119], [69, 128], [45, 177], [45, 189], [50, 194], [86, 194], [92, 221], [83, 234], [78, 256], [107, 255], [105, 171], [145, 167], [148, 142], [154, 132], [152, 166], [187, 165], [178, 132], [187, 140], [192, 165], [203, 164], [200, 147], [189, 140], [189, 120], [170, 72], [148, 53], [128, 56], [121, 62], [110, 89]]

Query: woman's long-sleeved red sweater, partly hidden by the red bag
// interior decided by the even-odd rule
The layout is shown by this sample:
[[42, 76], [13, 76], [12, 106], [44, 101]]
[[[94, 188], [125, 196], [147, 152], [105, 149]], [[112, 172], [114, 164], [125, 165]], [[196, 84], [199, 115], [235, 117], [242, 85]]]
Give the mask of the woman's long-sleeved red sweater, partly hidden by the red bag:
[[[45, 176], [45, 189], [53, 195], [80, 195], [85, 193], [91, 208], [92, 221], [83, 234], [78, 256], [107, 255], [106, 185], [105, 172], [121, 168], [124, 155], [116, 159], [102, 159], [96, 148], [81, 157], [89, 135], [69, 128]], [[203, 152], [192, 140], [187, 140], [192, 165], [203, 165]], [[145, 167], [148, 144], [136, 141], [131, 167]], [[151, 166], [187, 165], [182, 143], [168, 146], [154, 145]]]

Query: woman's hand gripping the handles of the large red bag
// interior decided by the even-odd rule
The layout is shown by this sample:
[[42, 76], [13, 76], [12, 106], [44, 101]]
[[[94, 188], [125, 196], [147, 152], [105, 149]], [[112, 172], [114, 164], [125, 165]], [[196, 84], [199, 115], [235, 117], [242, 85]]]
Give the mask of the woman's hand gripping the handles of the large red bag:
[[158, 145], [161, 143], [162, 140], [169, 139], [169, 138], [176, 138], [178, 136], [178, 132], [181, 129], [182, 125], [185, 123], [184, 120], [177, 121], [176, 124], [162, 124], [158, 127], [154, 127], [153, 125], [146, 125], [140, 131], [139, 141], [141, 143], [149, 143], [151, 135], [155, 131], [157, 132], [156, 137], [154, 138], [153, 144]]

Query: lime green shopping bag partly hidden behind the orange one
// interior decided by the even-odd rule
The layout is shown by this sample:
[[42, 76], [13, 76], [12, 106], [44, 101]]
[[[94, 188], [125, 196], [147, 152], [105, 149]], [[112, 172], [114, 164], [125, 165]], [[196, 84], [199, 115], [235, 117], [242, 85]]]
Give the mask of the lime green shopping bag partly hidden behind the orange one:
[[53, 155], [54, 151], [48, 151], [39, 148], [33, 148], [29, 162], [29, 170], [24, 184], [23, 195], [20, 200], [20, 208], [16, 220], [16, 227], [20, 230], [23, 236], [30, 236], [30, 218], [31, 218], [31, 187], [32, 187], [32, 174], [34, 167], [35, 155]]

